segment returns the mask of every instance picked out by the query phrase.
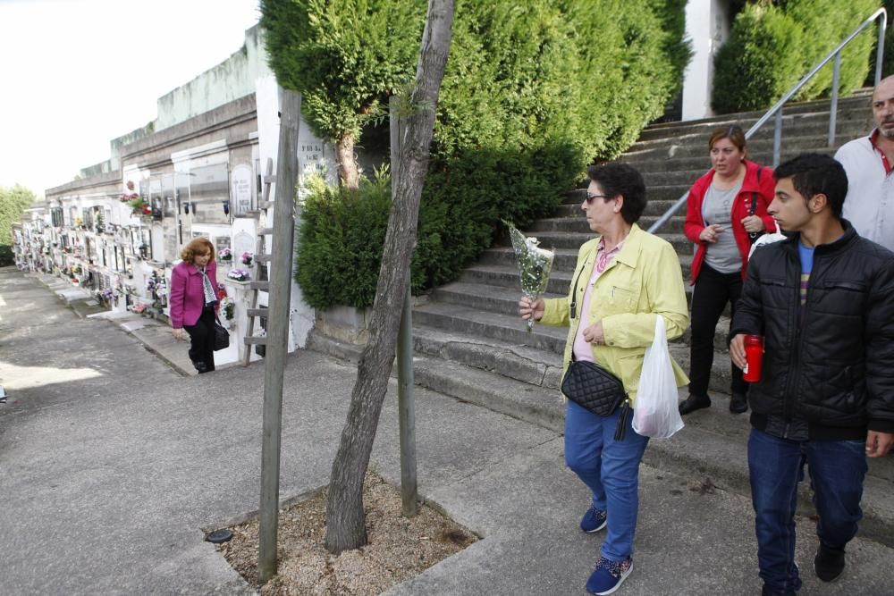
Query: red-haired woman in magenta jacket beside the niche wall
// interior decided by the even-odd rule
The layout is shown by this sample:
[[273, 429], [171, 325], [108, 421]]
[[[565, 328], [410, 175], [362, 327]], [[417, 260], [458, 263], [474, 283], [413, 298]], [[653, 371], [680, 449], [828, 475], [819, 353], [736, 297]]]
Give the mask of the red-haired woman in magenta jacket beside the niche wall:
[[215, 247], [207, 238], [190, 240], [171, 272], [171, 325], [175, 340], [190, 334], [190, 360], [198, 374], [215, 370], [217, 264]]

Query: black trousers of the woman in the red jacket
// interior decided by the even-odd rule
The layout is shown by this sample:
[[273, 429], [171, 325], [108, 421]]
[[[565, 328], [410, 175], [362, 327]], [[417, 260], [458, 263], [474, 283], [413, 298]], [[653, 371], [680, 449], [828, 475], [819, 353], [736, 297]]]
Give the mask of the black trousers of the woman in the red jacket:
[[[714, 361], [714, 330], [723, 314], [723, 308], [730, 303], [730, 310], [736, 314], [736, 304], [742, 295], [741, 273], [719, 273], [708, 264], [702, 264], [698, 273], [696, 288], [692, 294], [692, 340], [689, 343], [689, 393], [704, 397], [708, 395], [711, 379], [711, 365]], [[731, 321], [730, 321], [731, 323]], [[745, 395], [748, 383], [742, 380], [742, 369], [730, 362], [733, 393]]]

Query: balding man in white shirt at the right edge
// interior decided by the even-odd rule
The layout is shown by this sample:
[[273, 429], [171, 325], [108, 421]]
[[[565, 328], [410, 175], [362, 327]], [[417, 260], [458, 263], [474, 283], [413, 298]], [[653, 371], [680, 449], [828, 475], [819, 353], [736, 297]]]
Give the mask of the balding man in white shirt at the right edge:
[[835, 154], [848, 173], [842, 217], [866, 239], [894, 250], [894, 76], [873, 92], [876, 128], [846, 143]]

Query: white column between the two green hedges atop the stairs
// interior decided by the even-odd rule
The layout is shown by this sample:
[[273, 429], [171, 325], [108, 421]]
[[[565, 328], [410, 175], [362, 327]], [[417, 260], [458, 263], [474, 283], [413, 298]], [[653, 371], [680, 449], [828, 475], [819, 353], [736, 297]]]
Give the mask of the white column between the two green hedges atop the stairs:
[[729, 0], [689, 0], [686, 5], [686, 37], [693, 55], [683, 74], [684, 121], [713, 115], [714, 55], [730, 36], [729, 4]]

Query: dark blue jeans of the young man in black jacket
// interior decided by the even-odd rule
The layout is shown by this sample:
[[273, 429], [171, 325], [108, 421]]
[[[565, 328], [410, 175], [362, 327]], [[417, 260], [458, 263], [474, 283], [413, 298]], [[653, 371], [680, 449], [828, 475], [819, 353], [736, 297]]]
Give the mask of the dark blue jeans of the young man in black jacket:
[[865, 441], [789, 441], [752, 429], [748, 471], [755, 506], [757, 562], [763, 582], [777, 592], [797, 591], [795, 565], [797, 483], [810, 466], [820, 541], [844, 548], [863, 516], [860, 499], [866, 465]]

